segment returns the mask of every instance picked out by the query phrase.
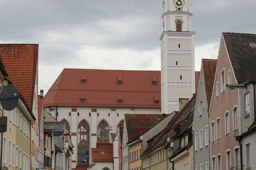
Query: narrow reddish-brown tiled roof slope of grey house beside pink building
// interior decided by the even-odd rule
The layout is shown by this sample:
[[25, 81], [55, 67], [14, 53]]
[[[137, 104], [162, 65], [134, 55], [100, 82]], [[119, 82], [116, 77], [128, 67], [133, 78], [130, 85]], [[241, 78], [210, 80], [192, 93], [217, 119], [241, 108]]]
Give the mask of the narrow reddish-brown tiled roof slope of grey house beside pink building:
[[208, 108], [211, 103], [217, 59], [202, 59]]

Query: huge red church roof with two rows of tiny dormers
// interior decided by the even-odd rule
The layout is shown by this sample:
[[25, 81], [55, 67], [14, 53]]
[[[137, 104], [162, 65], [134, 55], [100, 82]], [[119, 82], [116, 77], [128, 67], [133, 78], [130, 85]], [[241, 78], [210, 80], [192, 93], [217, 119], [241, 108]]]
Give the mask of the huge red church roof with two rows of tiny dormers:
[[44, 97], [56, 105], [161, 108], [161, 72], [65, 68]]

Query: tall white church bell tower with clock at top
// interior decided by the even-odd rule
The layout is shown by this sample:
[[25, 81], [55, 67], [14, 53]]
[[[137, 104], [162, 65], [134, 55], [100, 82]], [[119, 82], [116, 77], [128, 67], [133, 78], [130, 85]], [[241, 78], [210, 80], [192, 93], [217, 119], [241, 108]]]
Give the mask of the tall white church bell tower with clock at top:
[[191, 0], [163, 1], [161, 34], [162, 113], [179, 110], [179, 98], [195, 93], [195, 32], [191, 32]]

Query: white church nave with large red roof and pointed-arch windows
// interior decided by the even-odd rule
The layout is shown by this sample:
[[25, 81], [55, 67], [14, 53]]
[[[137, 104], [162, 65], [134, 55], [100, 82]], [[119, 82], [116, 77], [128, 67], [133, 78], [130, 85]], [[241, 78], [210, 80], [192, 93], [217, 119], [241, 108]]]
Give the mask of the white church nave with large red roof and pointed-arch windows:
[[57, 121], [65, 120], [70, 128], [72, 169], [118, 170], [119, 159], [114, 153], [118, 148], [114, 148], [111, 133], [118, 132], [124, 114], [161, 114], [160, 73], [92, 69], [61, 72], [44, 97], [44, 109]]

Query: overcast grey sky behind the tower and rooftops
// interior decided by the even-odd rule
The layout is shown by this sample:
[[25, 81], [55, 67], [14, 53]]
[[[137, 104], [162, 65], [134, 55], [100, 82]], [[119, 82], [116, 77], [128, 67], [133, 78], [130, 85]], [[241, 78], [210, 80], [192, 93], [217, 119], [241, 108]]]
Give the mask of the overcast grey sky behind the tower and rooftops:
[[[195, 69], [222, 32], [256, 34], [256, 0], [191, 0]], [[162, 0], [0, 0], [0, 43], [39, 44], [39, 90], [64, 68], [160, 70]]]

